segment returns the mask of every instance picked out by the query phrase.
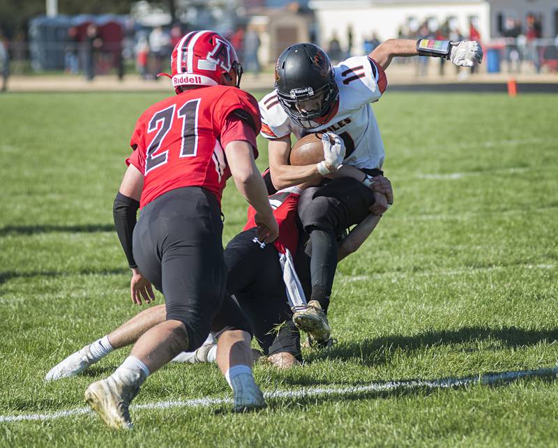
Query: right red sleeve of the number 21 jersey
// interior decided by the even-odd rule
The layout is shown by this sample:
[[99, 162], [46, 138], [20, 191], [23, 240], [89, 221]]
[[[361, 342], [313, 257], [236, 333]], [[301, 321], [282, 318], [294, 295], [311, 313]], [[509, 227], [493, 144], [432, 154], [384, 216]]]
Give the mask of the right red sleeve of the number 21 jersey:
[[250, 124], [256, 135], [259, 133], [262, 128], [259, 107], [256, 98], [248, 92], [235, 87], [227, 89], [213, 106], [213, 123], [219, 130], [222, 130], [225, 127], [227, 117], [232, 113]]

